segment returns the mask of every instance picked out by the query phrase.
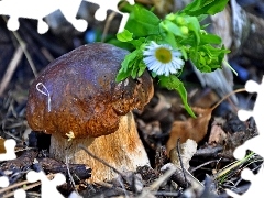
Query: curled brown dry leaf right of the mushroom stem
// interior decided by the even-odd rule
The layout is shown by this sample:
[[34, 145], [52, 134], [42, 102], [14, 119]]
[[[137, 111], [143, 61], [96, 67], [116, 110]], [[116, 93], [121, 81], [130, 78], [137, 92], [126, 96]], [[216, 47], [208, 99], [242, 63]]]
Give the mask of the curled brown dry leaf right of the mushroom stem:
[[167, 153], [177, 144], [186, 142], [188, 139], [200, 142], [207, 134], [208, 123], [211, 119], [212, 109], [193, 108], [197, 118], [188, 118], [186, 121], [175, 121], [167, 142]]

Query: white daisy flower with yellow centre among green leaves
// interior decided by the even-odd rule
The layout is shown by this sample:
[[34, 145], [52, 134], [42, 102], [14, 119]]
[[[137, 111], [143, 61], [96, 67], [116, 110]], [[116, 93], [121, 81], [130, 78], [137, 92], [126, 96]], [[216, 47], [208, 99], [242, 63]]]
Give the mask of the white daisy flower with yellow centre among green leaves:
[[177, 70], [184, 66], [184, 61], [180, 58], [182, 53], [173, 50], [168, 44], [158, 45], [152, 41], [143, 51], [143, 62], [148, 70], [156, 75], [177, 74]]

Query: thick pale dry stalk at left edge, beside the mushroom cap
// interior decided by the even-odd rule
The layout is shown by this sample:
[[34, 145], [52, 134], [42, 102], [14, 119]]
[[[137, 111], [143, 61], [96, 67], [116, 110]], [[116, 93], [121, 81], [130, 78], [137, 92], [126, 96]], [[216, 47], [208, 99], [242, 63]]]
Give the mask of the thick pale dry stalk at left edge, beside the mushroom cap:
[[2, 96], [4, 89], [7, 88], [11, 77], [13, 76], [13, 73], [15, 70], [15, 68], [18, 67], [21, 58], [23, 55], [23, 47], [19, 46], [15, 52], [14, 55], [12, 57], [12, 61], [9, 63], [8, 69], [6, 70], [6, 74], [3, 75], [2, 81], [0, 84], [0, 96]]

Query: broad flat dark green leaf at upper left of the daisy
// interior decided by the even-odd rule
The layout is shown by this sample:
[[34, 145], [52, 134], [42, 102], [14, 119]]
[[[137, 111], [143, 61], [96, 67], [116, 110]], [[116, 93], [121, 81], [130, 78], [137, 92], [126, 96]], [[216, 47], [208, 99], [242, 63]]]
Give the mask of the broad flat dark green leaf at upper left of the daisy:
[[129, 32], [133, 32], [135, 37], [147, 36], [160, 33], [161, 20], [151, 11], [135, 4], [125, 24]]

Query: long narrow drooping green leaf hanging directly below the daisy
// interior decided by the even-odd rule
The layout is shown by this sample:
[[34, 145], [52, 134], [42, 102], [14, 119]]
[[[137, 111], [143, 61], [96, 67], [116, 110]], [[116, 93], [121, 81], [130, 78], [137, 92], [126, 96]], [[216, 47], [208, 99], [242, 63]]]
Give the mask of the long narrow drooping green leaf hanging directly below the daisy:
[[158, 76], [160, 85], [167, 88], [168, 90], [177, 90], [185, 106], [186, 111], [194, 118], [196, 118], [194, 111], [188, 105], [187, 91], [184, 84], [174, 75], [170, 76]]

